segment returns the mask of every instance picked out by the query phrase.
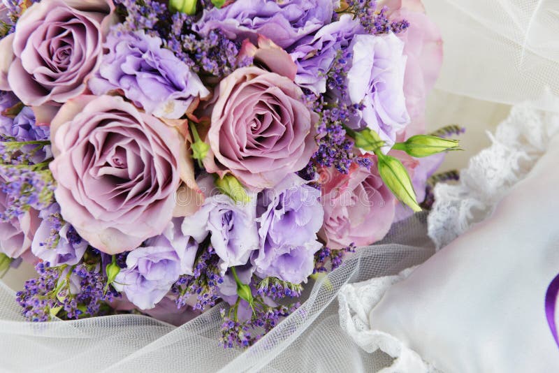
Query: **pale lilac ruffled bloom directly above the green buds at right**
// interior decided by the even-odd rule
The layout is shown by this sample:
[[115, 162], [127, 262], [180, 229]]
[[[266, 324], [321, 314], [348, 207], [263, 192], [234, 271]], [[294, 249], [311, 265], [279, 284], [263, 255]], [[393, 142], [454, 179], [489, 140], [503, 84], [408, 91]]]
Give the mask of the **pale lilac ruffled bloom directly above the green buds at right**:
[[394, 34], [356, 35], [347, 73], [349, 101], [360, 105], [350, 117], [352, 129], [369, 127], [391, 146], [409, 123], [404, 96], [404, 43]]

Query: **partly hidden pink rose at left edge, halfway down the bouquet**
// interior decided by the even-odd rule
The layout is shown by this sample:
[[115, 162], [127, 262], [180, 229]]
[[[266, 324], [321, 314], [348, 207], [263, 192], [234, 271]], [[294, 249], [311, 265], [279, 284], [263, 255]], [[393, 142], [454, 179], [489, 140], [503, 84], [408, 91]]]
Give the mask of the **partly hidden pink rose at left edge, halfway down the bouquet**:
[[[0, 183], [6, 183], [6, 179], [1, 175]], [[0, 188], [0, 210], [6, 210], [10, 203], [10, 197]], [[0, 221], [0, 252], [10, 258], [19, 258], [27, 254], [40, 223], [41, 219], [39, 219], [38, 211], [33, 209], [25, 212], [17, 219]]]

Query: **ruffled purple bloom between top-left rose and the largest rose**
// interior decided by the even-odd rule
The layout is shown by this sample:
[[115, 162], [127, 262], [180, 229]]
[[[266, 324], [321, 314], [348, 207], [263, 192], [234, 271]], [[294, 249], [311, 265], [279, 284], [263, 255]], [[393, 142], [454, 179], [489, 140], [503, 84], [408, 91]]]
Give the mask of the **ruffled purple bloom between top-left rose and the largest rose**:
[[89, 80], [94, 94], [122, 89], [148, 114], [178, 119], [210, 92], [198, 75], [161, 47], [161, 39], [141, 32], [112, 32], [99, 72]]

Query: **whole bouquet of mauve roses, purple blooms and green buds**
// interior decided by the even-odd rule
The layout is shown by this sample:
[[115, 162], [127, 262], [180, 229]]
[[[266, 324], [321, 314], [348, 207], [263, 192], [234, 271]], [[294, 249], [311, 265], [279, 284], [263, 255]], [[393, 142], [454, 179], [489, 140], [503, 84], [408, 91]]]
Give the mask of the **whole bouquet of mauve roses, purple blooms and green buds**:
[[222, 343], [248, 346], [427, 207], [458, 147], [423, 134], [442, 41], [419, 0], [3, 0], [0, 20], [0, 270], [36, 265], [30, 321], [223, 300]]

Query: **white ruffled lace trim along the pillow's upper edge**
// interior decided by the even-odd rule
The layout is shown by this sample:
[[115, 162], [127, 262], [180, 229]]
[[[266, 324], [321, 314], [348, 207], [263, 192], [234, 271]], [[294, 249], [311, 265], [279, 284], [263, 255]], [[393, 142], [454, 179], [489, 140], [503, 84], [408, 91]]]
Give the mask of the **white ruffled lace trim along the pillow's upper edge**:
[[528, 104], [512, 108], [493, 144], [470, 159], [457, 184], [437, 184], [428, 234], [440, 249], [493, 213], [495, 205], [522, 180], [559, 131], [559, 115]]

